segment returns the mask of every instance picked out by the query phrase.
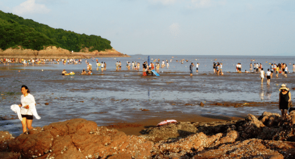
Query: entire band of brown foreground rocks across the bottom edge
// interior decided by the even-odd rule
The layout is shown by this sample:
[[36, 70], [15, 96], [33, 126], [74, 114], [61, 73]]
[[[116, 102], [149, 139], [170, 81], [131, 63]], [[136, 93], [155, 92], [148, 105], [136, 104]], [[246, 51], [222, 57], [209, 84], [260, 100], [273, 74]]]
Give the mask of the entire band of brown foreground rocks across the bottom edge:
[[293, 159], [295, 111], [239, 121], [177, 122], [141, 136], [77, 118], [13, 137], [0, 132], [1, 159]]

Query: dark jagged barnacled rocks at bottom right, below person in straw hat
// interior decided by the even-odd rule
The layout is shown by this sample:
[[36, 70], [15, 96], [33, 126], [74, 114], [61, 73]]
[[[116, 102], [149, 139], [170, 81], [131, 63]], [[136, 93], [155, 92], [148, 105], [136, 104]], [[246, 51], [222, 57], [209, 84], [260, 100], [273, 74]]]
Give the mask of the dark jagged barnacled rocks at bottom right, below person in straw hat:
[[154, 144], [152, 159], [292, 159], [295, 156], [293, 121], [293, 112], [284, 119], [279, 114], [265, 112], [259, 118], [249, 114], [239, 121], [180, 122], [142, 133], [156, 141], [157, 136], [166, 132], [166, 139]]

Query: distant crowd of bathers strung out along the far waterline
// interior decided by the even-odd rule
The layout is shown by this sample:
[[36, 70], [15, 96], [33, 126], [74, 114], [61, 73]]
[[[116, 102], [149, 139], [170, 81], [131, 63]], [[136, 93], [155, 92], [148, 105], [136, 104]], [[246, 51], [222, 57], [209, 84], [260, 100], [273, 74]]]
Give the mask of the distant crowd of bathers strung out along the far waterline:
[[[151, 59], [152, 60], [152, 59]], [[217, 61], [217, 59], [215, 59], [214, 61]], [[267, 68], [267, 71], [265, 71], [263, 69], [263, 65], [261, 63], [254, 63], [252, 64], [252, 61], [255, 61], [251, 59], [251, 63], [250, 63], [250, 70], [247, 71], [245, 70], [245, 73], [250, 73], [250, 72], [256, 72], [260, 74], [260, 78], [262, 79], [262, 83], [263, 80], [266, 76], [267, 78], [267, 84], [269, 84], [270, 79], [273, 77], [273, 73], [276, 73], [276, 77], [279, 77], [279, 74], [281, 73], [284, 77], [287, 77], [287, 74], [290, 73], [290, 70], [287, 66], [286, 63], [278, 63], [278, 64], [269, 64], [269, 70]], [[24, 65], [34, 65], [34, 64], [59, 64], [62, 63], [63, 65], [71, 65], [71, 64], [82, 64], [82, 59], [45, 59], [45, 58], [30, 58], [30, 59], [24, 59], [24, 58], [1, 58], [0, 59], [0, 63], [22, 63]], [[92, 65], [87, 62], [87, 60], [85, 60], [86, 64], [87, 64], [87, 70], [91, 71], [92, 73]], [[94, 57], [92, 58], [92, 62], [94, 62]], [[172, 62], [172, 59], [170, 60], [170, 63]], [[179, 62], [181, 64], [183, 64], [183, 62], [188, 62], [188, 60], [185, 59], [180, 59], [179, 61], [176, 60], [176, 62]], [[117, 61], [116, 65], [116, 71], [121, 70], [121, 62]], [[105, 62], [98, 62], [98, 59], [96, 59], [96, 70], [101, 70], [101, 72], [106, 70], [106, 66], [107, 64]], [[193, 67], [196, 67], [196, 72], [199, 71], [199, 66], [200, 64], [197, 63], [196, 65], [192, 64]], [[141, 64], [139, 62], [133, 61], [133, 62], [127, 62], [126, 63], [126, 69], [127, 70], [134, 70], [134, 71], [140, 71]], [[159, 72], [160, 67], [161, 68], [169, 68], [169, 60], [162, 60], [162, 63], [160, 64], [160, 59], [155, 59], [153, 61], [151, 61], [148, 65], [148, 62], [145, 61], [142, 64], [142, 70], [143, 72], [148, 71], [148, 70], [155, 70], [156, 72]], [[293, 72], [295, 72], [295, 64], [293, 64], [292, 66], [293, 68]], [[191, 68], [190, 68], [191, 69]], [[192, 70], [192, 69], [191, 69]], [[242, 65], [241, 63], [237, 63], [236, 65], [236, 71], [241, 73], [242, 71]], [[223, 71], [222, 71], [222, 63], [219, 62], [213, 62], [213, 72], [216, 73], [217, 75], [223, 75]], [[270, 74], [269, 74], [270, 72]], [[91, 73], [85, 73], [82, 72], [82, 74], [91, 74]]]

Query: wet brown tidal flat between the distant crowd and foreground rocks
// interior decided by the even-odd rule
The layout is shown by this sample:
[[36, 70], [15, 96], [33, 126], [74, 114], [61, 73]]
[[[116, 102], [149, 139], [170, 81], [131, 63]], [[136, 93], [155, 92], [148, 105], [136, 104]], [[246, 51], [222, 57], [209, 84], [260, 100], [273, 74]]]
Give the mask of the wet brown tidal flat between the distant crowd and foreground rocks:
[[[19, 72], [20, 70], [20, 72]], [[282, 83], [295, 88], [294, 73], [261, 85], [259, 74], [225, 72], [164, 72], [159, 77], [135, 71], [93, 71], [93, 75], [62, 76], [59, 70], [0, 67], [2, 107], [0, 131], [20, 134], [21, 123], [10, 105], [20, 102], [25, 84], [37, 103], [40, 120], [33, 126], [71, 118], [85, 118], [127, 135], [154, 127], [166, 119], [189, 122], [229, 121], [247, 114], [280, 113], [278, 89]], [[293, 96], [293, 95], [292, 95]], [[203, 102], [205, 106], [201, 107]], [[48, 103], [49, 105], [45, 105]], [[9, 126], [3, 126], [3, 123]]]

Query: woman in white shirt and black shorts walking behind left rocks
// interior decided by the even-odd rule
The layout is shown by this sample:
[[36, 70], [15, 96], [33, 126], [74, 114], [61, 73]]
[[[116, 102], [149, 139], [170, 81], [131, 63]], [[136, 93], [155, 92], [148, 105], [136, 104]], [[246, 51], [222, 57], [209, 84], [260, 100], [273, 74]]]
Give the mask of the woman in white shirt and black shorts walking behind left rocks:
[[36, 107], [35, 107], [35, 99], [29, 93], [29, 89], [27, 86], [23, 85], [21, 87], [21, 91], [23, 93], [21, 97], [21, 103], [19, 106], [21, 107], [21, 114], [22, 114], [22, 125], [23, 125], [23, 132], [25, 133], [28, 129], [32, 129], [32, 121], [33, 115], [40, 119], [41, 117], [37, 114]]

